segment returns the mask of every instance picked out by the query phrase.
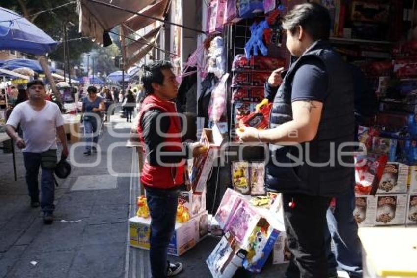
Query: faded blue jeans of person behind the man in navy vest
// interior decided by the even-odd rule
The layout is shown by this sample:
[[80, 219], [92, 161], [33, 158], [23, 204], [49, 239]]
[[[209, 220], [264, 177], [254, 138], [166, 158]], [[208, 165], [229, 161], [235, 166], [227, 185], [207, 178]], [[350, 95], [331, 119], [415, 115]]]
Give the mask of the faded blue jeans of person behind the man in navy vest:
[[335, 253], [329, 247], [326, 251], [329, 268], [337, 267], [349, 273], [351, 278], [362, 277], [362, 247], [358, 237], [358, 225], [353, 217], [355, 209], [355, 192], [342, 195], [336, 200], [334, 210], [327, 210], [326, 218], [329, 229], [326, 231], [326, 241], [333, 239]]

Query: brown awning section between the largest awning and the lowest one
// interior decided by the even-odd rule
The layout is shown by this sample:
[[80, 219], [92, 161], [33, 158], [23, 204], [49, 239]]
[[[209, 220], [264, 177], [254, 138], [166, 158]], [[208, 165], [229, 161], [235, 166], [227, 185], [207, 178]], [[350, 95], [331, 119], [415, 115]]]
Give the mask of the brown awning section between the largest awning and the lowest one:
[[[158, 2], [156, 2], [156, 4], [147, 7], [140, 13], [146, 16], [152, 16], [157, 19], [163, 20], [164, 14], [168, 10], [170, 3], [171, 0], [159, 0]], [[122, 28], [125, 32], [125, 35], [129, 35], [132, 32], [136, 32], [142, 28], [145, 28], [154, 22], [154, 19], [134, 15], [123, 23], [124, 26], [122, 25]]]

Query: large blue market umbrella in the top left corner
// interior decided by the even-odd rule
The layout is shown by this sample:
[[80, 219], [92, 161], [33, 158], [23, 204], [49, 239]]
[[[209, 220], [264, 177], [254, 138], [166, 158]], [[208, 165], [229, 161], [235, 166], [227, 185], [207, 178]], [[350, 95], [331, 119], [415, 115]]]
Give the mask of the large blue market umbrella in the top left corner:
[[0, 7], [0, 49], [42, 55], [58, 42], [21, 15]]

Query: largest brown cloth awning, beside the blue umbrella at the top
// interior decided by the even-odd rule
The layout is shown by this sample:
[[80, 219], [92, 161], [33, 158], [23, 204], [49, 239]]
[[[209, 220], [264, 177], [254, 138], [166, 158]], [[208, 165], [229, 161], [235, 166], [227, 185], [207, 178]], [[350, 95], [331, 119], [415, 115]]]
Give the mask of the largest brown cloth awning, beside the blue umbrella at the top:
[[[98, 0], [100, 2], [125, 8], [131, 11], [141, 11], [155, 0]], [[79, 31], [86, 36], [95, 38], [97, 42], [103, 43], [103, 32], [109, 31], [115, 26], [132, 17], [132, 13], [118, 10], [109, 6], [92, 2], [90, 0], [79, 0]]]

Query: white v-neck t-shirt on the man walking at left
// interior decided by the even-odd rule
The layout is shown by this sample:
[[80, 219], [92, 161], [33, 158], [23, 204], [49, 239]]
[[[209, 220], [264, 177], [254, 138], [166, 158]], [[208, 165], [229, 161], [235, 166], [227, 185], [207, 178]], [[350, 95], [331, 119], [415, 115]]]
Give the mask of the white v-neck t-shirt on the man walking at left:
[[41, 153], [57, 149], [56, 128], [64, 124], [64, 118], [56, 103], [46, 101], [41, 111], [35, 111], [29, 101], [19, 103], [6, 124], [17, 128], [19, 123], [26, 144], [24, 152]]

